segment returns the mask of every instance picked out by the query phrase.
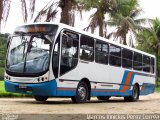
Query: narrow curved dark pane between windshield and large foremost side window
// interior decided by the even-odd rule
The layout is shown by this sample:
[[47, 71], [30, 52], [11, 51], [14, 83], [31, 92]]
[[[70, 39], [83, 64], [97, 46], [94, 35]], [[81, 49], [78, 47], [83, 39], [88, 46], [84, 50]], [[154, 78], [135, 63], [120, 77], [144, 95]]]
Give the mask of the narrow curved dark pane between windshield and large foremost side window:
[[59, 48], [60, 48], [60, 35], [58, 36], [53, 49], [52, 68], [55, 78], [58, 77], [59, 50], [60, 50]]

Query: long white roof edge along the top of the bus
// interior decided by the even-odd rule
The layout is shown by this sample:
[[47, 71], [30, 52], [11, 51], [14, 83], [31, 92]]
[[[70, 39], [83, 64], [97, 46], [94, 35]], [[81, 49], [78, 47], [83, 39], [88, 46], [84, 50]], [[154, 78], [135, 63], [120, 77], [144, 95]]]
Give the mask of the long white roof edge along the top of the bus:
[[138, 52], [138, 53], [141, 53], [141, 54], [144, 54], [144, 55], [148, 55], [148, 56], [151, 56], [151, 57], [154, 57], [154, 58], [155, 58], [155, 55], [146, 53], [146, 52], [144, 52], [144, 51], [141, 51], [141, 50], [138, 50], [138, 49], [135, 49], [135, 48], [131, 48], [131, 47], [126, 46], [126, 45], [119, 44], [119, 43], [117, 43], [117, 42], [115, 42], [115, 41], [111, 41], [111, 40], [109, 40], [109, 39], [107, 39], [107, 38], [103, 38], [103, 37], [94, 35], [94, 34], [92, 34], [92, 33], [89, 33], [89, 32], [83, 31], [83, 30], [80, 30], [80, 29], [78, 29], [78, 28], [76, 28], [76, 27], [72, 27], [72, 26], [69, 26], [69, 25], [66, 25], [66, 24], [63, 24], [63, 23], [38, 22], [38, 23], [23, 24], [23, 25], [21, 25], [21, 26], [25, 26], [25, 25], [40, 25], [40, 24], [58, 25], [60, 31], [61, 31], [62, 29], [69, 29], [69, 30], [71, 30], [71, 31], [75, 31], [75, 32], [78, 32], [78, 33], [81, 33], [81, 34], [84, 34], [84, 35], [93, 37], [93, 38], [95, 38], [95, 39], [102, 40], [102, 41], [105, 41], [105, 42], [108, 42], [108, 43], [111, 43], [111, 44], [114, 44], [114, 45], [117, 45], [117, 46], [120, 46], [120, 47], [123, 47], [123, 48], [127, 48], [127, 49], [129, 49], [129, 50], [132, 50], [132, 51], [135, 51], [135, 52]]

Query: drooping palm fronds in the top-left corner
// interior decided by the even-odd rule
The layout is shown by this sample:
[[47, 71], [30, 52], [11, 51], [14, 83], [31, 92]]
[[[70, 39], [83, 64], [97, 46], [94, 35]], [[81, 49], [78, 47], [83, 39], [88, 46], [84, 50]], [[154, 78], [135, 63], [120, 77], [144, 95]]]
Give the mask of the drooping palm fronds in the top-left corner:
[[0, 33], [2, 21], [4, 24], [7, 22], [10, 11], [11, 0], [0, 0]]

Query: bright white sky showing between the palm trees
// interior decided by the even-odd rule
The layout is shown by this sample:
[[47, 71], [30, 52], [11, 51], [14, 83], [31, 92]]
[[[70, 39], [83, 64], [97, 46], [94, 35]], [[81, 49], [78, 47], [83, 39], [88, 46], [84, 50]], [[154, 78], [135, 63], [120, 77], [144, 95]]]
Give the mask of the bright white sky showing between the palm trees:
[[[12, 33], [16, 26], [23, 24], [21, 6], [19, 1], [20, 0], [12, 0], [10, 15], [5, 27], [2, 26], [2, 33]], [[47, 4], [48, 1], [50, 0], [38, 0], [36, 5], [36, 12], [38, 13], [38, 11], [43, 7], [43, 5]], [[139, 5], [143, 9], [143, 13], [141, 14], [140, 18], [160, 18], [160, 0], [139, 0]], [[93, 12], [94, 11], [83, 12], [82, 20], [80, 20], [80, 17], [76, 16], [75, 27], [79, 29], [85, 28], [89, 23], [89, 16]], [[57, 16], [55, 21], [59, 22], [59, 18], [60, 15]]]

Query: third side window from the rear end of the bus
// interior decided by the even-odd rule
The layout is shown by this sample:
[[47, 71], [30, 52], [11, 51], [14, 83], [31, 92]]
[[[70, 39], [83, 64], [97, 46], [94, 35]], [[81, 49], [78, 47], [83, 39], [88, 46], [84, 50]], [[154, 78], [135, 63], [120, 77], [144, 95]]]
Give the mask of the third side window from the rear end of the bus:
[[142, 70], [142, 54], [134, 52], [133, 69], [138, 71]]

